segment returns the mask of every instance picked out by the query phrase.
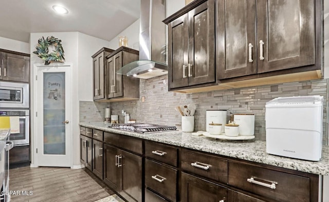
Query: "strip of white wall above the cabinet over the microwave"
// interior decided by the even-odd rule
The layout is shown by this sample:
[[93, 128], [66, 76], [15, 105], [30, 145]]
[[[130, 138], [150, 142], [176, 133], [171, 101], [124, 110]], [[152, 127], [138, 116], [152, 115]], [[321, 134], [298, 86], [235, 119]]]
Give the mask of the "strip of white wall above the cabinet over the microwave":
[[0, 49], [30, 54], [30, 44], [0, 36]]

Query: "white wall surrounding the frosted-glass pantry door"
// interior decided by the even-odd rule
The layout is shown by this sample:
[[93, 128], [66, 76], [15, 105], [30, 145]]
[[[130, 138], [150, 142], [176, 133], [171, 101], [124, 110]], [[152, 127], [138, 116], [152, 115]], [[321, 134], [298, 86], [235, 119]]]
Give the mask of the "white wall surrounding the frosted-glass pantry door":
[[[79, 100], [93, 100], [93, 62], [92, 55], [102, 47], [108, 46], [108, 42], [93, 36], [88, 36], [79, 32], [49, 32], [49, 33], [31, 33], [30, 35], [30, 54], [31, 67], [34, 63], [44, 63], [37, 55], [32, 53], [38, 44], [38, 39], [42, 36], [54, 36], [62, 40], [65, 62], [72, 63], [72, 120], [70, 124], [73, 131], [72, 142], [72, 164], [71, 167], [80, 166], [80, 130], [79, 130]], [[33, 103], [33, 68], [31, 68], [31, 103]], [[31, 105], [31, 126], [34, 124], [35, 111]], [[31, 165], [34, 164], [34, 129], [31, 128]]]

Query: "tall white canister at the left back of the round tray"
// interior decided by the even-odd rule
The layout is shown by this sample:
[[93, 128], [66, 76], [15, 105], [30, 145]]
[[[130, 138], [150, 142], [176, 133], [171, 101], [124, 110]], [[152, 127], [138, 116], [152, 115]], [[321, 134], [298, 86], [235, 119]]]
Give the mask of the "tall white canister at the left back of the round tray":
[[224, 133], [224, 126], [226, 124], [227, 110], [206, 110], [206, 131], [209, 132], [209, 124], [222, 124], [222, 131]]

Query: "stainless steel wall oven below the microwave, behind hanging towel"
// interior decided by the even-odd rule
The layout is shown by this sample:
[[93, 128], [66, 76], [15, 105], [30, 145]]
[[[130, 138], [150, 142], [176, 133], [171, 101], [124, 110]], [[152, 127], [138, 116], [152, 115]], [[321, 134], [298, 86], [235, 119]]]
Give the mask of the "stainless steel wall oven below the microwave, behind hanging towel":
[[2, 110], [0, 116], [19, 116], [20, 117], [20, 133], [10, 134], [9, 139], [14, 143], [14, 146], [29, 145], [30, 143], [30, 118], [29, 110]]

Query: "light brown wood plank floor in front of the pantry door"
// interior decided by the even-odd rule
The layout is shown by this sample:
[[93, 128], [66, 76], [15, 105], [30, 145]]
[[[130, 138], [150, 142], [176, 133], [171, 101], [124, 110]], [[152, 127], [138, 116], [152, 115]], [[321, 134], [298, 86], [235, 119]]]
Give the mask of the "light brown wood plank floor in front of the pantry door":
[[[89, 175], [90, 174], [90, 175]], [[100, 179], [84, 169], [22, 167], [9, 170], [11, 201], [96, 201], [112, 195]], [[22, 195], [22, 191], [32, 191]]]

